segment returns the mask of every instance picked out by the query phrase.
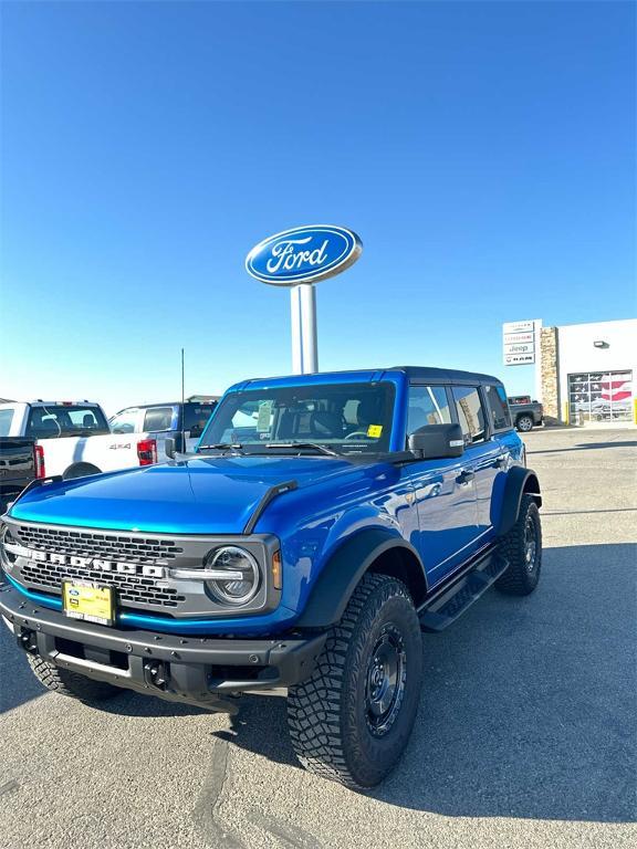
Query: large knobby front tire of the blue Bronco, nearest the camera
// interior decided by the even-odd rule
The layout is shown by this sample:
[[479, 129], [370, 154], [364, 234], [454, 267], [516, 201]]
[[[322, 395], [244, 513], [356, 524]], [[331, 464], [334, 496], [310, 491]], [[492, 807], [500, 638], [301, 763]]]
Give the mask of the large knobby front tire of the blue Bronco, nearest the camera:
[[[367, 694], [374, 652], [388, 632], [401, 641], [404, 683], [391, 724], [377, 736], [368, 724]], [[365, 575], [332, 628], [314, 673], [290, 688], [288, 725], [299, 761], [353, 789], [378, 784], [409, 740], [421, 674], [422, 638], [407, 588], [387, 575]]]

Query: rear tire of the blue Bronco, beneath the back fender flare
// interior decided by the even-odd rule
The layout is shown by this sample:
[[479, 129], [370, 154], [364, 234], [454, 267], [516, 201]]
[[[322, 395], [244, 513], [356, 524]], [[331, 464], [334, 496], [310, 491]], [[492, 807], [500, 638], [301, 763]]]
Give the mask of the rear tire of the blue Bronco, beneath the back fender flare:
[[[535, 534], [535, 554], [532, 564], [526, 559], [529, 523], [533, 525]], [[500, 551], [509, 560], [509, 568], [498, 578], [495, 587], [511, 596], [528, 596], [533, 593], [542, 569], [542, 525], [537, 504], [531, 495], [522, 495], [518, 521], [502, 538]]]

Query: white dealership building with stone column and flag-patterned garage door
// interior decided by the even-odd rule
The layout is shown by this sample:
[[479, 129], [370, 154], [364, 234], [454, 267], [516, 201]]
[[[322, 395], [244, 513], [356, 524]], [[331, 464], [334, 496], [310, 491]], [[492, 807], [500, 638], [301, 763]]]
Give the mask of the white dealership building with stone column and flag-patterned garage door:
[[537, 329], [547, 421], [637, 423], [637, 318]]

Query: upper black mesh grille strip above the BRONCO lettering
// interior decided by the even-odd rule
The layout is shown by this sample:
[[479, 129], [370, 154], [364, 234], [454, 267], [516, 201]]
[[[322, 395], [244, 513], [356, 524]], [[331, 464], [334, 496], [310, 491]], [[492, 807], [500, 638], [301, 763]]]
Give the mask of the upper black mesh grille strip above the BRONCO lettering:
[[20, 526], [20, 538], [29, 548], [79, 557], [98, 557], [154, 566], [174, 560], [184, 549], [171, 539]]

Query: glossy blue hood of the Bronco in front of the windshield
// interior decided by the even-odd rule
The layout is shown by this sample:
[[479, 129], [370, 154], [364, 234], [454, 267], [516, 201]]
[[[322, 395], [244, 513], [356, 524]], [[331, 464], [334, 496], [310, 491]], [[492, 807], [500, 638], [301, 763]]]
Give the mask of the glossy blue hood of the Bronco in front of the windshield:
[[300, 488], [352, 470], [330, 457], [198, 457], [45, 484], [12, 518], [55, 525], [170, 534], [240, 534], [271, 486]]

